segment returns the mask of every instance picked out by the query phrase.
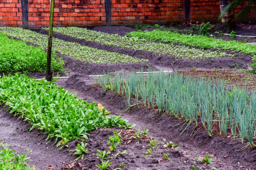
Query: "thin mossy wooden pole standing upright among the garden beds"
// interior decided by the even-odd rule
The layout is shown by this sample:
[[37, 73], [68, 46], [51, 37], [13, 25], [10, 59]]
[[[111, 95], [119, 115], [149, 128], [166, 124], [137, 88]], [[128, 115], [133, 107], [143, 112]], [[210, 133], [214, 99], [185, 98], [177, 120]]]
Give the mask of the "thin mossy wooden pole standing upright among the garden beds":
[[49, 38], [48, 38], [48, 47], [47, 47], [47, 64], [46, 64], [46, 74], [45, 74], [45, 79], [47, 81], [52, 81], [52, 77], [53, 77], [53, 72], [51, 69], [53, 12], [54, 12], [54, 0], [51, 0]]

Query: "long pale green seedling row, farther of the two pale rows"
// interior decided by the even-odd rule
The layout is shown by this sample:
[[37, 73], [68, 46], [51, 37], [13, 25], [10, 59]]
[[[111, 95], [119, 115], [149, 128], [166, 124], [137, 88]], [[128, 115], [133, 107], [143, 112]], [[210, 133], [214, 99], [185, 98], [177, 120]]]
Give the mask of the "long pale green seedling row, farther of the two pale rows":
[[203, 59], [216, 57], [233, 57], [232, 54], [218, 51], [214, 52], [187, 46], [165, 44], [137, 37], [122, 37], [117, 34], [96, 32], [88, 30], [86, 28], [54, 27], [53, 31], [70, 37], [75, 37], [77, 39], [84, 39], [86, 41], [97, 42], [108, 46], [148, 51], [150, 53], [156, 53], [159, 55], [170, 55], [176, 58]]

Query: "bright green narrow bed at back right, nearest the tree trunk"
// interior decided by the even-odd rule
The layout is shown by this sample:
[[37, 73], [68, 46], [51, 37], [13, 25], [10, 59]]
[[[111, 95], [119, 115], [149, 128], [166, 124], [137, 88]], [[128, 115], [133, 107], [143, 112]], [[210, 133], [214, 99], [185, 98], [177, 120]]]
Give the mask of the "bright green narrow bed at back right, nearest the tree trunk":
[[181, 43], [188, 46], [196, 46], [202, 48], [215, 48], [222, 50], [234, 50], [237, 52], [243, 52], [246, 54], [256, 54], [255, 45], [247, 44], [241, 41], [224, 41], [221, 39], [215, 39], [212, 37], [202, 35], [184, 35], [180, 33], [170, 32], [168, 30], [159, 31], [144, 31], [144, 32], [129, 32], [127, 36], [144, 38], [150, 40], [158, 40], [168, 43]]

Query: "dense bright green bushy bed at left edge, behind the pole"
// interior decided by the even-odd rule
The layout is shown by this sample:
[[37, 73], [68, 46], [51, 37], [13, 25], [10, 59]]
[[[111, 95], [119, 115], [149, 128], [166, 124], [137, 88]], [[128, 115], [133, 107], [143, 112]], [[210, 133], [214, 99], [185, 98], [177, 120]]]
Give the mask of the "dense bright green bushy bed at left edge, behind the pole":
[[[0, 34], [0, 72], [45, 71], [46, 53], [41, 47]], [[55, 59], [54, 59], [55, 58]], [[64, 61], [52, 54], [52, 70], [62, 70]]]

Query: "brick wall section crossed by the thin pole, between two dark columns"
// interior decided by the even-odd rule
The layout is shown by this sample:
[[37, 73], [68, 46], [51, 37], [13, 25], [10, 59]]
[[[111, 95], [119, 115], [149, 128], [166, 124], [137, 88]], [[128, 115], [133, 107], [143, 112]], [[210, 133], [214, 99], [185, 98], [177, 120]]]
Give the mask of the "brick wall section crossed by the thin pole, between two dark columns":
[[[28, 0], [28, 25], [49, 25], [50, 0]], [[102, 25], [104, 0], [55, 0], [54, 25]]]

